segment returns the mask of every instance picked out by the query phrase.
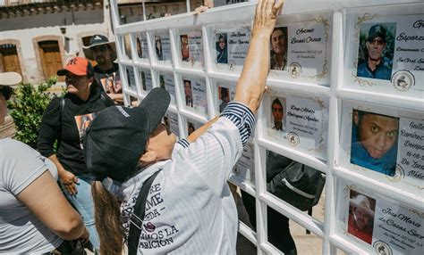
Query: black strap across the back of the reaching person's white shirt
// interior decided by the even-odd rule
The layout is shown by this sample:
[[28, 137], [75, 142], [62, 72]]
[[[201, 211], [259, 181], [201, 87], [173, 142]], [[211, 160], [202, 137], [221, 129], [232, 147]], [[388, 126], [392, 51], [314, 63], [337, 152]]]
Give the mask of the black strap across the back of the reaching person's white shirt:
[[137, 202], [135, 202], [134, 210], [132, 210], [130, 218], [130, 234], [128, 236], [128, 255], [136, 255], [139, 250], [139, 240], [146, 212], [145, 207], [146, 200], [148, 199], [148, 191], [159, 172], [160, 169], [151, 177], [148, 177], [148, 180], [141, 186], [139, 197], [137, 198]]

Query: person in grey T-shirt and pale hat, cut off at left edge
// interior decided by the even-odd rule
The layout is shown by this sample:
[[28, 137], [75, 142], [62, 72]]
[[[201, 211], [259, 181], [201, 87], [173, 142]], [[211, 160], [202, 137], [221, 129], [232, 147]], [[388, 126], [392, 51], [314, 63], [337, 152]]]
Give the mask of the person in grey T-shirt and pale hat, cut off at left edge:
[[[16, 72], [0, 73], [0, 125]], [[27, 144], [0, 139], [0, 253], [70, 253], [64, 240], [86, 242], [89, 232], [56, 185], [55, 165]], [[52, 210], [55, 209], [55, 210]], [[71, 250], [69, 250], [71, 249]]]

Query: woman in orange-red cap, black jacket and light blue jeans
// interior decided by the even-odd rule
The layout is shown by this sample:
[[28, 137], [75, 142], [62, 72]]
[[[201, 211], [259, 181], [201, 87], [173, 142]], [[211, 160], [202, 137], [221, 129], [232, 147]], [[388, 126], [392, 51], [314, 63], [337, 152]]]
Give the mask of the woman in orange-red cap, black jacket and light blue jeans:
[[[82, 142], [86, 130], [79, 130], [77, 119], [114, 105], [105, 95], [87, 59], [72, 58], [58, 76], [65, 76], [67, 93], [55, 97], [41, 119], [38, 151], [55, 163], [64, 193], [80, 212], [89, 229], [89, 241], [98, 250], [98, 234], [94, 226], [94, 204], [90, 185], [94, 180], [86, 168]], [[86, 127], [84, 127], [86, 128]], [[55, 143], [57, 149], [55, 151]]]

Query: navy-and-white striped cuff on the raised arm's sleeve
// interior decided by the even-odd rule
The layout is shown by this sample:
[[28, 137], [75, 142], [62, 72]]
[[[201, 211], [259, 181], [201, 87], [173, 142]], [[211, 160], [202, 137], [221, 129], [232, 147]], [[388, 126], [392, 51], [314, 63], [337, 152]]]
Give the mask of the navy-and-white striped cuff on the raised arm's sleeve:
[[221, 117], [230, 119], [234, 123], [239, 129], [243, 146], [246, 145], [255, 126], [255, 116], [249, 107], [239, 102], [228, 103]]

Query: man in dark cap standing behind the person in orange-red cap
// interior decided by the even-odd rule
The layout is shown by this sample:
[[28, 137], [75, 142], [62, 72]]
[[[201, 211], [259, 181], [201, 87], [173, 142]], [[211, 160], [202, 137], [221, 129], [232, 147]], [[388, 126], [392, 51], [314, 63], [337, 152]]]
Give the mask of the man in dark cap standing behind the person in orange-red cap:
[[85, 56], [98, 62], [94, 67], [94, 78], [103, 86], [106, 94], [115, 104], [123, 104], [123, 90], [116, 60], [116, 46], [107, 37], [94, 35], [89, 39], [89, 46], [83, 47]]

